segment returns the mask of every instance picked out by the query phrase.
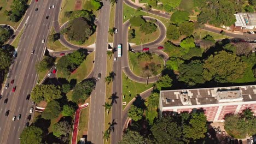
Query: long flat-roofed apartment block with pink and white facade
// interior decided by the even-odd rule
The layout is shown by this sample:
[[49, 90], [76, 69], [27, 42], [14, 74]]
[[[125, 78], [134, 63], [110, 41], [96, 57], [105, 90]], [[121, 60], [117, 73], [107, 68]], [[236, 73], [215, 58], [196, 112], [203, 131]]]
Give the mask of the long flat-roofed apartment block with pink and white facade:
[[251, 108], [256, 115], [256, 85], [177, 89], [160, 91], [159, 111], [205, 110], [207, 121], [223, 122], [227, 113], [241, 113]]

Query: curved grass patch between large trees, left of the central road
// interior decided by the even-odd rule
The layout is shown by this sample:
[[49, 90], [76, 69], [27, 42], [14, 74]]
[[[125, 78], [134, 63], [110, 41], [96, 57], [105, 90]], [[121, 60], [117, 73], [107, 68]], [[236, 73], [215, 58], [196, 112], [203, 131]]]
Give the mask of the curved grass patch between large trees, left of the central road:
[[75, 73], [69, 75], [68, 77], [65, 77], [62, 75], [61, 71], [59, 71], [59, 73], [57, 71], [57, 77], [66, 78], [68, 81], [70, 81], [72, 79], [76, 79], [77, 83], [79, 83], [80, 81], [84, 80], [85, 77], [91, 73], [91, 70], [93, 68], [92, 61], [94, 61], [94, 52], [91, 52], [86, 57], [84, 62], [82, 62], [82, 64], [80, 64], [80, 66], [75, 70]]

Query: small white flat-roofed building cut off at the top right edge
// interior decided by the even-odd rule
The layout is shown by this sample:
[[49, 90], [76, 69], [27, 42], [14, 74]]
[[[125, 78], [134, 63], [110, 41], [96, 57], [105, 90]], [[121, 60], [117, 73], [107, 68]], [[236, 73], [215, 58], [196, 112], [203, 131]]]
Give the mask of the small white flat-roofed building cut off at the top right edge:
[[256, 29], [256, 13], [237, 13], [234, 31], [241, 29]]

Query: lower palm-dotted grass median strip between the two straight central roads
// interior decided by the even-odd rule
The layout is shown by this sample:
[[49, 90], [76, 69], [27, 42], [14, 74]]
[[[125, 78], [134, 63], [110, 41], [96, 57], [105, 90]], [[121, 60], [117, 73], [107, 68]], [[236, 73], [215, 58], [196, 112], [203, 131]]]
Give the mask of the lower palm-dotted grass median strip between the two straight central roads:
[[[113, 57], [114, 55], [112, 55], [110, 59], [109, 57], [107, 57], [107, 75], [113, 70]], [[106, 103], [109, 103], [109, 104], [111, 103], [111, 99], [109, 99], [111, 98], [111, 95], [112, 95], [112, 82], [110, 82], [109, 84], [106, 83]], [[112, 115], [111, 109], [109, 113], [107, 113], [107, 111], [105, 112], [104, 131], [106, 131], [109, 128], [108, 123], [112, 122], [111, 115]], [[108, 141], [104, 140], [104, 143], [106, 144], [111, 143], [110, 137]]]

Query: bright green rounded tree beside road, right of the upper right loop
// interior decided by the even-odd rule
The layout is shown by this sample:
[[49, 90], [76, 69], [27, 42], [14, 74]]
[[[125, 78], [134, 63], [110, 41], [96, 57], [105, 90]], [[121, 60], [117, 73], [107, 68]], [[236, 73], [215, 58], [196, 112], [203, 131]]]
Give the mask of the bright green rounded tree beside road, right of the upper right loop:
[[189, 13], [187, 11], [176, 11], [171, 15], [171, 21], [180, 25], [185, 21], [189, 21]]

